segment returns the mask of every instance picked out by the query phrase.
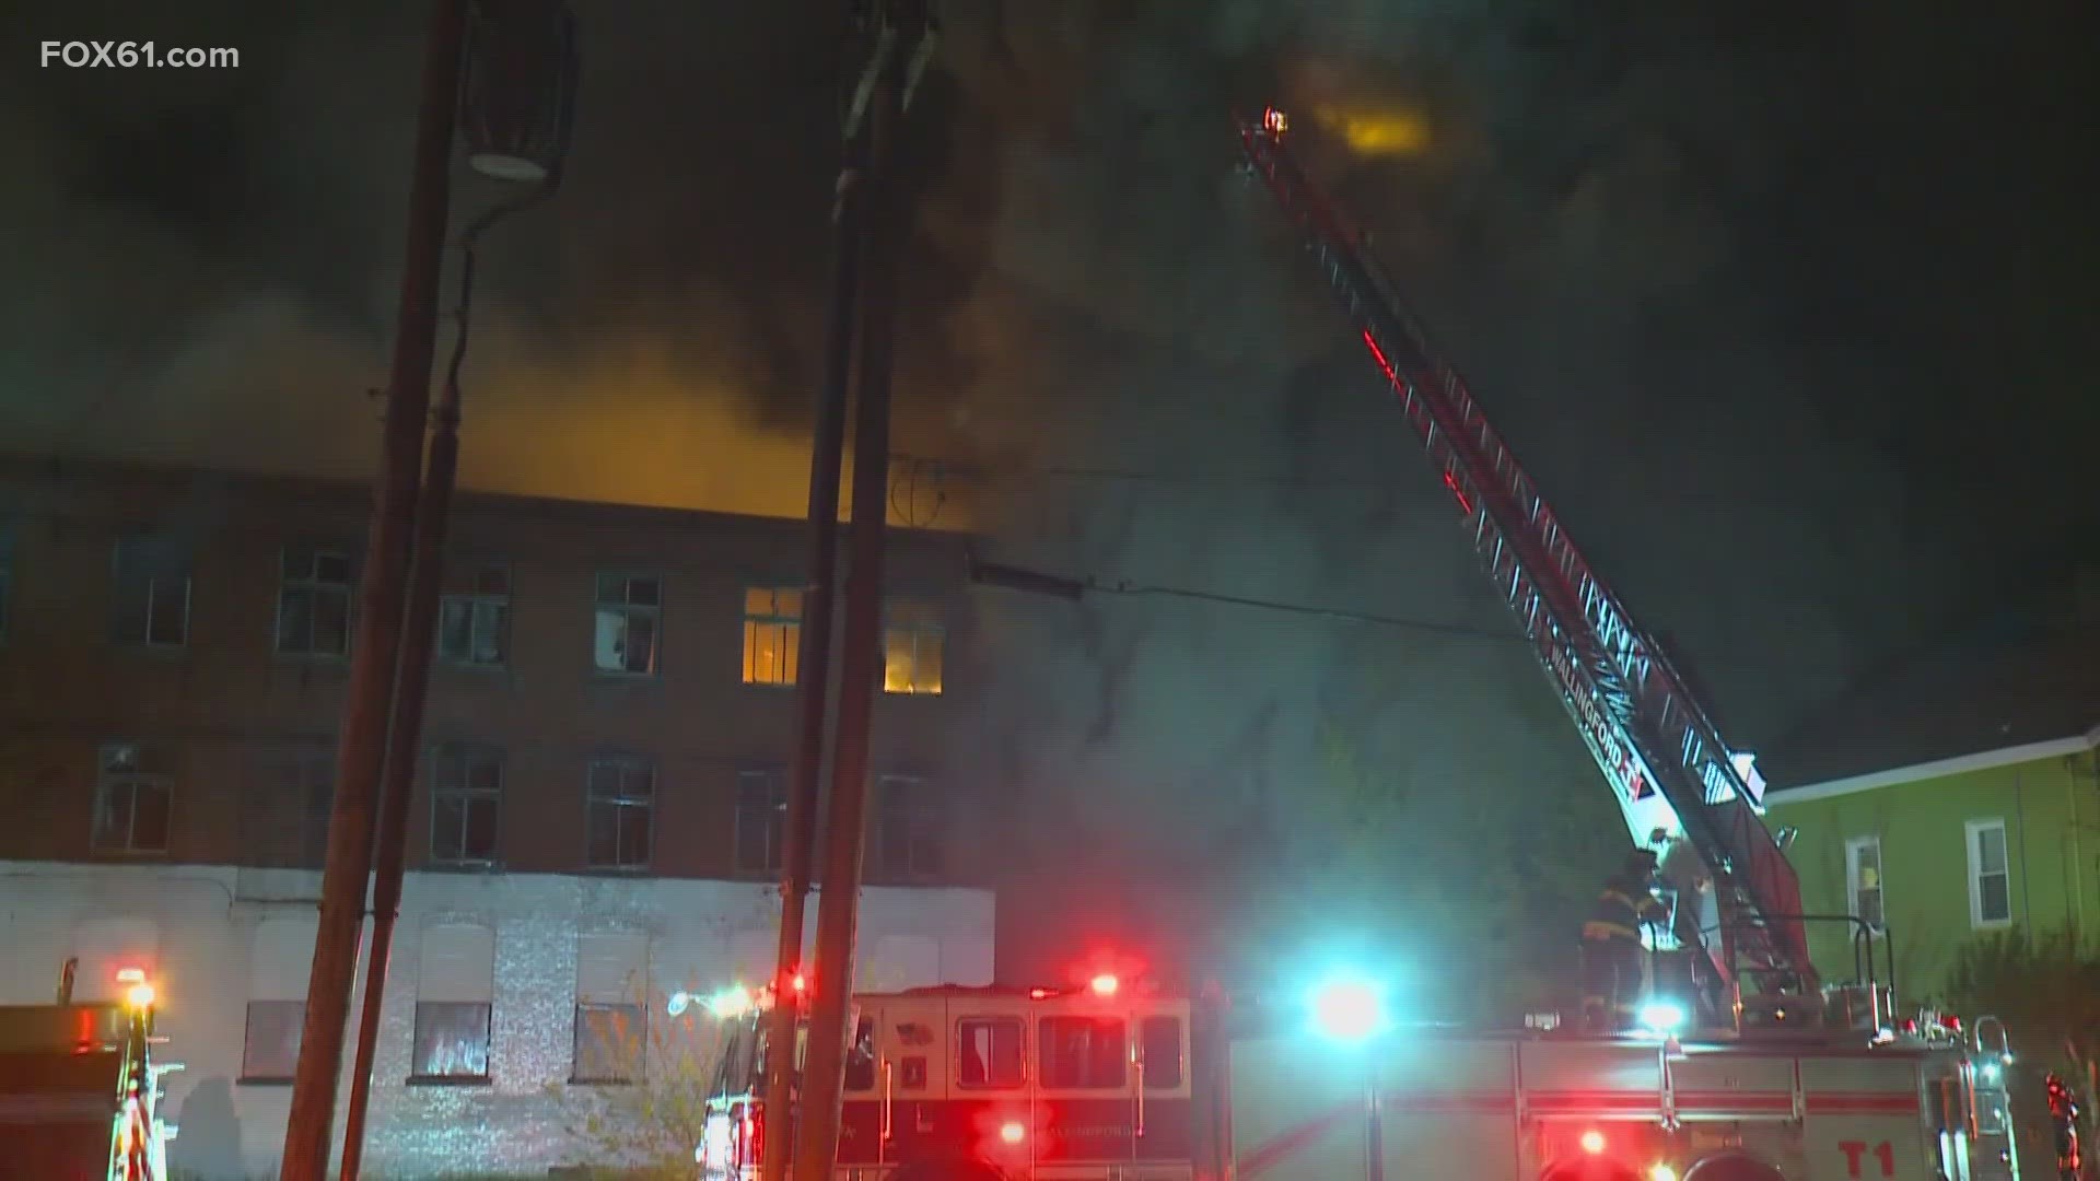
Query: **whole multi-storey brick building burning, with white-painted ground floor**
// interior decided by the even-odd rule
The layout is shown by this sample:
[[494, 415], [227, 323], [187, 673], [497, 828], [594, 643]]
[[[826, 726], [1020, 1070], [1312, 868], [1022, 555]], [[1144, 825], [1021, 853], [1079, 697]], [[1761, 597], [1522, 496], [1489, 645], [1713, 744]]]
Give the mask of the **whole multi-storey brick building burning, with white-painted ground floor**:
[[[365, 509], [321, 481], [0, 471], [0, 1002], [46, 1000], [69, 956], [90, 994], [149, 967], [187, 1063], [174, 1162], [206, 1177], [284, 1137]], [[388, 1175], [586, 1156], [580, 1114], [657, 1065], [613, 1032], [762, 977], [777, 914], [800, 525], [468, 496], [452, 536], [374, 1080]], [[953, 538], [892, 534], [867, 986], [991, 975], [983, 792], [943, 740], [962, 574]]]

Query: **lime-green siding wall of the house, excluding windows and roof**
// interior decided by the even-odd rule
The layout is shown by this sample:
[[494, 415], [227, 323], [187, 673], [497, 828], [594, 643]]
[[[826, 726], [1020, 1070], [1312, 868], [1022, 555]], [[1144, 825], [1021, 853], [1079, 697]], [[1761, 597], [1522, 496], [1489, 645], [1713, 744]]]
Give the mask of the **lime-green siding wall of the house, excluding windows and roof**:
[[[1850, 912], [1846, 843], [1882, 838], [1882, 906], [1907, 1002], [1934, 998], [1955, 950], [1976, 931], [1993, 929], [1978, 927], [1972, 914], [1970, 822], [2006, 826], [2012, 918], [1995, 927], [2092, 931], [2100, 923], [2100, 792], [2092, 750], [1800, 803], [1774, 792], [1766, 803], [1766, 824], [1800, 830], [1787, 857], [1802, 876], [1802, 908], [1810, 914]], [[1810, 925], [1810, 952], [1823, 979], [1854, 977], [1852, 937], [1842, 927]]]

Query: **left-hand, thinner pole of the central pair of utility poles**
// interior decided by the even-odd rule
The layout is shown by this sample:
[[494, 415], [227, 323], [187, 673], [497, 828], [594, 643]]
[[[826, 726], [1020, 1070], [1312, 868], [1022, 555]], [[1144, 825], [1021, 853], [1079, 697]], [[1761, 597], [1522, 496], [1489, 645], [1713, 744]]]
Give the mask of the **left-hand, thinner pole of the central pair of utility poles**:
[[[859, 319], [861, 248], [861, 113], [848, 116], [838, 198], [832, 206], [836, 256], [832, 261], [832, 311], [825, 328], [823, 389], [817, 393], [817, 435], [808, 462], [808, 586], [802, 593], [802, 641], [796, 660], [796, 757], [788, 788], [788, 832], [781, 841], [781, 937], [773, 971], [773, 1011], [766, 1040], [794, 1044], [802, 992], [802, 920], [808, 902], [811, 866], [817, 845], [817, 786], [823, 773], [825, 721], [832, 689], [832, 588], [838, 584], [838, 473], [846, 454], [846, 395], [853, 387], [853, 338]], [[788, 1179], [788, 1149], [794, 1145], [794, 1055], [766, 1055], [766, 1137], [758, 1164], [760, 1181]]]

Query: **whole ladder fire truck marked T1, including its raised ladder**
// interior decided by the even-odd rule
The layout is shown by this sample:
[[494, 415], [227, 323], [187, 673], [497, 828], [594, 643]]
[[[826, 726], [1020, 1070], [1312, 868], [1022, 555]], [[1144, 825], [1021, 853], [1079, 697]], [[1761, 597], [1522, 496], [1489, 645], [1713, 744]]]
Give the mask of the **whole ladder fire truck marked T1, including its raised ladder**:
[[[1894, 965], [1877, 971], [1886, 941], [1802, 910], [1756, 761], [1590, 569], [1287, 134], [1275, 107], [1241, 118], [1247, 174], [1319, 263], [1676, 897], [1644, 1028], [1403, 1021], [1361, 979], [1292, 1002], [1191, 1002], [1115, 977], [869, 994], [848, 1023], [834, 1177], [2016, 1181], [2003, 1025], [1900, 1017]], [[1850, 981], [1810, 962], [1806, 927], [1823, 920], [1854, 929]], [[708, 1181], [756, 1177], [766, 1139], [758, 1019], [739, 1019], [695, 1152]]]

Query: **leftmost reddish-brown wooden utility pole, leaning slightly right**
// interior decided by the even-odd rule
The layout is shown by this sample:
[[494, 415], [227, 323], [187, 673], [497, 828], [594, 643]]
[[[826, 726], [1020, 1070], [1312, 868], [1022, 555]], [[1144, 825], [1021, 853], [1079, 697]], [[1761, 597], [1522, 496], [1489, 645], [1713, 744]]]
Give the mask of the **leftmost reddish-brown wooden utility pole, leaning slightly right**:
[[336, 1114], [336, 1080], [342, 1074], [342, 1032], [357, 973], [357, 937], [365, 918], [365, 880], [372, 874], [372, 803], [386, 757], [388, 706], [407, 595], [410, 532], [416, 523], [422, 433], [430, 410], [430, 353], [437, 347], [437, 284], [445, 252], [454, 101], [460, 88], [464, 38], [466, 0], [433, 0], [380, 477], [359, 586], [361, 614], [342, 708], [336, 803], [328, 822], [328, 862], [321, 870], [321, 918], [313, 941], [313, 975], [307, 981], [307, 1025], [292, 1080], [292, 1112], [284, 1133], [281, 1181], [321, 1181], [334, 1139], [330, 1131]]

